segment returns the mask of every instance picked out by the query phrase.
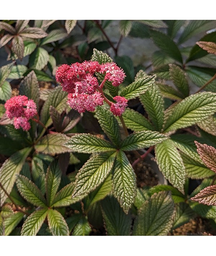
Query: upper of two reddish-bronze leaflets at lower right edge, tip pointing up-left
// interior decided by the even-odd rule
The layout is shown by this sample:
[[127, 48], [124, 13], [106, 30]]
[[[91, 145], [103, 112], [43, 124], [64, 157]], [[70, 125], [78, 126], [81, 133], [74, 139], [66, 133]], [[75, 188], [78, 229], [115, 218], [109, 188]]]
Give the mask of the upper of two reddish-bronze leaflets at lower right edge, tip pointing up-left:
[[216, 172], [216, 149], [207, 144], [195, 141], [197, 152], [202, 162], [212, 171]]

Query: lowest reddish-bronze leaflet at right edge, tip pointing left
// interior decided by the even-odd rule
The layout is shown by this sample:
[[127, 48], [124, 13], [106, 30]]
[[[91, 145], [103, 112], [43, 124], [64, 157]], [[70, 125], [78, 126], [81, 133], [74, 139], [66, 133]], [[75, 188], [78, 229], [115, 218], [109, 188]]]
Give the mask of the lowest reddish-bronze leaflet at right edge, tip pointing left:
[[191, 200], [203, 203], [204, 205], [216, 205], [216, 185], [202, 189]]

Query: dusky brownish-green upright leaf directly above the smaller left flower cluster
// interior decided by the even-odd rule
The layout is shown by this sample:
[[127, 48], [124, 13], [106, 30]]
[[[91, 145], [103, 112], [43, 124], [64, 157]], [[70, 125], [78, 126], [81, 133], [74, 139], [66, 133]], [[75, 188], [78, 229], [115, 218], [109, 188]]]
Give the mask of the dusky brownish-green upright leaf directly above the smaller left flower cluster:
[[37, 77], [33, 70], [28, 73], [28, 75], [20, 83], [19, 93], [21, 95], [26, 95], [29, 99], [33, 99], [37, 105], [37, 109], [39, 109], [40, 88]]

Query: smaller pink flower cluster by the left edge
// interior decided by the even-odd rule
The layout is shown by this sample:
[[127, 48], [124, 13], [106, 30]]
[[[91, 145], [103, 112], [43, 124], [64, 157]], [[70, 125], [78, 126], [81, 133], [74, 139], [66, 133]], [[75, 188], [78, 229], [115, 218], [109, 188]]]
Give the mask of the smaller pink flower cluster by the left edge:
[[7, 100], [5, 109], [6, 115], [10, 119], [14, 118], [15, 129], [22, 127], [24, 131], [28, 131], [31, 128], [29, 120], [37, 114], [35, 102], [25, 95], [15, 96]]

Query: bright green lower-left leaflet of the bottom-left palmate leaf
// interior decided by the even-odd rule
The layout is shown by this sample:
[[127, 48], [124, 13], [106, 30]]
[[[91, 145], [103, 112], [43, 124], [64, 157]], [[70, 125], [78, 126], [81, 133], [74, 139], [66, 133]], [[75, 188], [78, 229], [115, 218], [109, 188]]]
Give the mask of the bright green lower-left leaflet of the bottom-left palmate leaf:
[[46, 219], [47, 212], [47, 208], [32, 212], [23, 223], [21, 235], [37, 235]]

